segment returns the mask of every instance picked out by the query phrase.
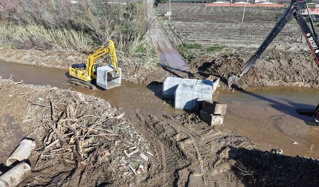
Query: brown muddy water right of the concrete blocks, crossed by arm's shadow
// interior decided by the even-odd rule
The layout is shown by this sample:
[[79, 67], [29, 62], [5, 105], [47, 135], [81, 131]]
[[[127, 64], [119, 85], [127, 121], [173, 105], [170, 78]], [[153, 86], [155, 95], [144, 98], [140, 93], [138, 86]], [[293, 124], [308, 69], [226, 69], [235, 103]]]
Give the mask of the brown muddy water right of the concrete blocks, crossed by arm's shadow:
[[295, 111], [314, 109], [319, 89], [271, 87], [234, 93], [220, 91], [214, 100], [228, 104], [224, 123], [238, 135], [249, 137], [264, 149], [280, 148], [285, 155], [319, 159], [319, 127], [307, 126], [304, 121], [313, 118]]

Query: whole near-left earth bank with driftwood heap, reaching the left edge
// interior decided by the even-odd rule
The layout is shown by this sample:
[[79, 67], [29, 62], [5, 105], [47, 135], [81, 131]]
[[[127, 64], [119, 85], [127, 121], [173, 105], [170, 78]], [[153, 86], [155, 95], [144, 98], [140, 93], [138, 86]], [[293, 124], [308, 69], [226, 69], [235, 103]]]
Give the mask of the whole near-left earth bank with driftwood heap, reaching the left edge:
[[[32, 176], [22, 185], [126, 186], [148, 177], [152, 151], [124, 114], [104, 100], [7, 79], [0, 79], [0, 94], [0, 114], [6, 119], [0, 124], [6, 143], [0, 162], [24, 136], [37, 145], [29, 158]], [[124, 150], [135, 153], [127, 156]]]

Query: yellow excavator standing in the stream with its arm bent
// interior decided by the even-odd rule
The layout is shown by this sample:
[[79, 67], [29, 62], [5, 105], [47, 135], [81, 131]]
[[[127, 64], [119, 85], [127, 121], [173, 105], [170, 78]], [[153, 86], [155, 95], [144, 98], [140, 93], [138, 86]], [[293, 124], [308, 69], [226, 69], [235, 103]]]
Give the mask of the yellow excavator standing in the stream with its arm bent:
[[97, 68], [100, 67], [99, 64], [95, 64], [95, 60], [107, 53], [110, 53], [114, 68], [114, 71], [111, 74], [108, 74], [108, 78], [114, 79], [119, 77], [120, 70], [117, 65], [118, 60], [116, 58], [114, 42], [109, 40], [88, 56], [86, 64], [72, 64], [72, 66], [69, 67], [69, 75], [75, 78], [70, 78], [68, 83], [94, 89], [94, 84], [97, 79]]

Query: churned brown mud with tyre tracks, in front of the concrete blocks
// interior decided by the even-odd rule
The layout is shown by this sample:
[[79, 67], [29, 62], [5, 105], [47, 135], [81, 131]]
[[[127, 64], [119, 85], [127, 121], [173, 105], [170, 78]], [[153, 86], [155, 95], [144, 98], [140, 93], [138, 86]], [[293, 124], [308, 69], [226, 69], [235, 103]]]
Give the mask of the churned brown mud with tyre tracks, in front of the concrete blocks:
[[137, 111], [133, 120], [154, 151], [147, 186], [239, 185], [229, 180], [235, 176], [229, 171], [227, 146], [252, 147], [246, 138], [223, 126], [208, 126], [195, 114], [155, 117]]

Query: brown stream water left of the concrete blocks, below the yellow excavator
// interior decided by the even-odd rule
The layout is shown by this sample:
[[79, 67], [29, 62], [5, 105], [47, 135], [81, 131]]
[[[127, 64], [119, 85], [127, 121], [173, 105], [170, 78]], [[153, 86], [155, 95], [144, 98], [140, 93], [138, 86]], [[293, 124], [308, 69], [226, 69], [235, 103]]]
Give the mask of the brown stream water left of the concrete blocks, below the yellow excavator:
[[94, 95], [108, 101], [112, 106], [122, 107], [128, 113], [133, 114], [138, 107], [153, 115], [177, 115], [185, 113], [182, 110], [174, 110], [171, 101], [161, 100], [161, 85], [132, 84], [122, 81], [120, 87], [110, 90], [90, 90], [67, 84], [67, 70], [36, 67], [31, 65], [0, 62], [0, 76], [9, 78], [13, 74], [15, 81], [23, 80], [26, 84], [51, 85], [58, 88], [79, 91]]

